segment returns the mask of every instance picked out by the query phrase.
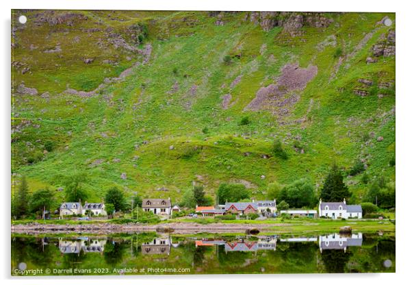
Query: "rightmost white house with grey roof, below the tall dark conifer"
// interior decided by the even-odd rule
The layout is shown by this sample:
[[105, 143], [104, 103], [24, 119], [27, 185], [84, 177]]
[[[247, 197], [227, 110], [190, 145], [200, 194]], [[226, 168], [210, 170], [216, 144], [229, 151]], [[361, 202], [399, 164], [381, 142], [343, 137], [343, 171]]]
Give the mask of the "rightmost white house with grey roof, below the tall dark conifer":
[[362, 207], [360, 205], [346, 205], [343, 202], [322, 202], [319, 201], [319, 216], [331, 219], [362, 219]]

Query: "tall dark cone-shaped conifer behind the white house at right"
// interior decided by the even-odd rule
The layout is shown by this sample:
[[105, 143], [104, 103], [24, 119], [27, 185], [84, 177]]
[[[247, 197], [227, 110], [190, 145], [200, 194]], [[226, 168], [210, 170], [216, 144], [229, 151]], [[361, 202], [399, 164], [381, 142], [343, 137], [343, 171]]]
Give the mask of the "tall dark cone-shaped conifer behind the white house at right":
[[348, 187], [344, 184], [344, 176], [342, 171], [333, 164], [329, 174], [324, 180], [322, 190], [320, 191], [320, 198], [324, 202], [337, 202], [349, 199], [351, 194]]

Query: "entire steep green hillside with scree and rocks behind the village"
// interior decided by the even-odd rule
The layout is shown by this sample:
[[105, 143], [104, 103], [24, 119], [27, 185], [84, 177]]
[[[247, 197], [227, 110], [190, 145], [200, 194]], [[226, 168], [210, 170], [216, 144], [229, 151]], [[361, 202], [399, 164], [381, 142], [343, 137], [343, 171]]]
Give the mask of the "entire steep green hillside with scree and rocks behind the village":
[[[394, 31], [390, 13], [15, 10], [13, 185], [84, 173], [96, 201], [193, 182], [262, 198], [358, 161], [394, 181]], [[346, 177], [359, 201], [362, 175]]]

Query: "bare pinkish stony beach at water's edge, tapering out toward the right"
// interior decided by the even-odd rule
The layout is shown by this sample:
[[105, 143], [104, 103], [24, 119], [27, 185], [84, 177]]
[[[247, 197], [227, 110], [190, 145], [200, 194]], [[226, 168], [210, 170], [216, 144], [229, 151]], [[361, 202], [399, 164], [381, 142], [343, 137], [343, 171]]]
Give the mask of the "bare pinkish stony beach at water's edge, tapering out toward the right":
[[231, 233], [245, 232], [250, 229], [259, 231], [270, 230], [271, 227], [287, 227], [290, 224], [236, 224], [236, 223], [211, 223], [201, 225], [198, 223], [167, 223], [159, 225], [126, 224], [116, 225], [111, 223], [90, 223], [83, 225], [53, 225], [32, 223], [27, 225], [12, 225], [12, 233], [16, 234], [115, 234], [136, 232], [173, 232], [175, 234], [196, 234], [199, 232]]

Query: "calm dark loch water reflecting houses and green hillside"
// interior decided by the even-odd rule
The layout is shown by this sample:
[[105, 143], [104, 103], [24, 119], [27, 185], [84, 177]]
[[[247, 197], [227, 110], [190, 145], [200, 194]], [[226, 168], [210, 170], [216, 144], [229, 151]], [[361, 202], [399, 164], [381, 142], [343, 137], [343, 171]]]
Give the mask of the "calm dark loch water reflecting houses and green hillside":
[[395, 272], [394, 234], [12, 236], [12, 275]]

